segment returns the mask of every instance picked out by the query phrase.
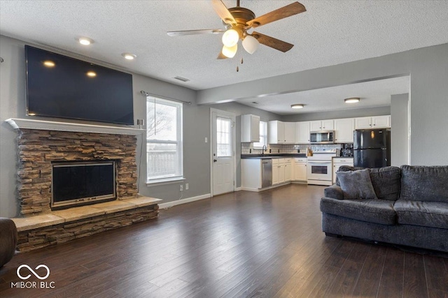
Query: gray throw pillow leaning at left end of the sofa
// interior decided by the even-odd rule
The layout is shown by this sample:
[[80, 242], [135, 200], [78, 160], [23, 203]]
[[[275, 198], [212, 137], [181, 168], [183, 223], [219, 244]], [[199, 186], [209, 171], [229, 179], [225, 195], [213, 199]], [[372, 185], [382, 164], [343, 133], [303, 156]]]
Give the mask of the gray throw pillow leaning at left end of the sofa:
[[337, 172], [344, 199], [377, 199], [369, 170]]

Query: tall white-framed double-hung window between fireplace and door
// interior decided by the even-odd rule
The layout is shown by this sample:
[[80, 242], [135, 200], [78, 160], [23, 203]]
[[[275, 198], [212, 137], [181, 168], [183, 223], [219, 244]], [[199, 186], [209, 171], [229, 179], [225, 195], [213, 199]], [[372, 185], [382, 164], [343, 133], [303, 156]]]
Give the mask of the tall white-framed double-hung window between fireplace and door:
[[180, 179], [182, 162], [182, 104], [146, 98], [147, 181]]

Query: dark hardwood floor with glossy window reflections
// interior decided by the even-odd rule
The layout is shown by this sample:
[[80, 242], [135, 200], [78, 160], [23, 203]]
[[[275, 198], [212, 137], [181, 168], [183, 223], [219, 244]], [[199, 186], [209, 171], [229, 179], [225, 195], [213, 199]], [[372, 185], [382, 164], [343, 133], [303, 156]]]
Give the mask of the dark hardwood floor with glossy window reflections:
[[[325, 237], [322, 194], [239, 191], [20, 253], [0, 269], [0, 297], [448, 297], [446, 255]], [[11, 288], [23, 264], [48, 266], [54, 288]]]

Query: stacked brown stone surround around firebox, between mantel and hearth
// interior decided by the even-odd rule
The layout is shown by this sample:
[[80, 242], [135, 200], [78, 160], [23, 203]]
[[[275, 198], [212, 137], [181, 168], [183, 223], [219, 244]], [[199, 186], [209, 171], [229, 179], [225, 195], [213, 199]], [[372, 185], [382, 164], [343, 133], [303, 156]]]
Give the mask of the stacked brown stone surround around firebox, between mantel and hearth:
[[18, 198], [20, 213], [50, 211], [52, 162], [116, 161], [117, 198], [137, 196], [137, 137], [105, 133], [18, 131]]

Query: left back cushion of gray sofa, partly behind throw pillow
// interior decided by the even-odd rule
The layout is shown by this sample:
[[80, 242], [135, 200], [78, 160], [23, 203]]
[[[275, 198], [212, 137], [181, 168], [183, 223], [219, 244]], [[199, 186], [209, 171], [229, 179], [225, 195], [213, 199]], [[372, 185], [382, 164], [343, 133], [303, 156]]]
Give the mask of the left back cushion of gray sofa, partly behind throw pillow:
[[[349, 167], [342, 165], [338, 172], [360, 170], [362, 167]], [[369, 169], [370, 180], [377, 198], [381, 200], [398, 200], [400, 194], [401, 170], [399, 167], [377, 167]], [[336, 184], [340, 185], [336, 177]]]

